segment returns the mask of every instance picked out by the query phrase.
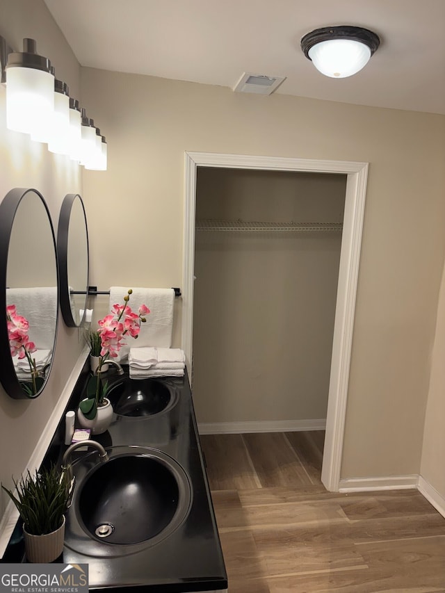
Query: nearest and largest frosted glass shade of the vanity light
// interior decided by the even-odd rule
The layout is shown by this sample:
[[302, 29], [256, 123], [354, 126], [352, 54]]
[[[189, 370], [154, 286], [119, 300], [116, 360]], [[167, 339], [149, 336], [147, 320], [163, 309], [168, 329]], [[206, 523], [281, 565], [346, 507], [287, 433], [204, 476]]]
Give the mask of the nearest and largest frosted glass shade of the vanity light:
[[29, 67], [6, 70], [6, 127], [34, 133], [54, 111], [54, 76]]

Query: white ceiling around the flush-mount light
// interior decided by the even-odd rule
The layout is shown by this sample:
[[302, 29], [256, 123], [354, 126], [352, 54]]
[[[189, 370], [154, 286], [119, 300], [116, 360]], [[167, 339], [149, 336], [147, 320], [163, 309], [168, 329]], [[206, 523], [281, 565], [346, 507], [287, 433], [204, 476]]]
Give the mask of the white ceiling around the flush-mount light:
[[[275, 92], [445, 114], [445, 0], [45, 2], [82, 66], [230, 88], [243, 72], [286, 76]], [[343, 24], [380, 47], [362, 72], [330, 79], [300, 39]]]

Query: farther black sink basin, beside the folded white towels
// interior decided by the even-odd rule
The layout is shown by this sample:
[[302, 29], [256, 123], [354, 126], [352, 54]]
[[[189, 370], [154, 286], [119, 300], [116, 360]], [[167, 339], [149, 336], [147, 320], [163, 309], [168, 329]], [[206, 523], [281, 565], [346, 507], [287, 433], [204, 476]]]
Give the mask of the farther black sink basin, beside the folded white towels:
[[108, 391], [118, 416], [154, 416], [175, 403], [176, 396], [167, 385], [156, 379], [124, 379]]

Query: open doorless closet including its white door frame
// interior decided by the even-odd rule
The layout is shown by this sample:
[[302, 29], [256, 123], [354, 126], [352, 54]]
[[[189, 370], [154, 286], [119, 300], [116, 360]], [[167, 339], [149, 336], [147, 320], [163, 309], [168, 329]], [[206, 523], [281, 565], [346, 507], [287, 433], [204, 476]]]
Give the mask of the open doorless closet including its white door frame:
[[332, 491], [366, 171], [186, 155], [183, 348], [200, 432], [325, 429], [321, 480]]

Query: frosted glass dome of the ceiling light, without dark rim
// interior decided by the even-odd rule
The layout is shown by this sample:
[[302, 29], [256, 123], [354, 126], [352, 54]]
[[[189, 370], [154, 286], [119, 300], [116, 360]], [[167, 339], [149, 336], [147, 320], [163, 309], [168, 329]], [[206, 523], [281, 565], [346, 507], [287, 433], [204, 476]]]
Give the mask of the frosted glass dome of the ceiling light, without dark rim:
[[366, 66], [371, 58], [371, 49], [352, 39], [332, 39], [311, 47], [309, 58], [321, 74], [344, 79]]

